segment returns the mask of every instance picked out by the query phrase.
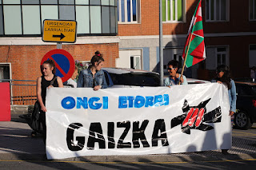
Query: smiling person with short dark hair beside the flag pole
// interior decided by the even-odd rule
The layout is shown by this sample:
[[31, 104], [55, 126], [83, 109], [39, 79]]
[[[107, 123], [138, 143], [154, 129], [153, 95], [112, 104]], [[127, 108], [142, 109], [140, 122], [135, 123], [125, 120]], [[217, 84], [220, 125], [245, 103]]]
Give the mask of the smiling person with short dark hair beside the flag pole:
[[178, 82], [181, 81], [182, 85], [187, 85], [186, 77], [184, 75], [177, 73], [179, 69], [178, 61], [172, 60], [168, 62], [167, 70], [170, 74], [164, 81], [164, 85], [170, 87], [172, 85], [178, 85]]

